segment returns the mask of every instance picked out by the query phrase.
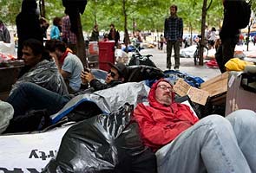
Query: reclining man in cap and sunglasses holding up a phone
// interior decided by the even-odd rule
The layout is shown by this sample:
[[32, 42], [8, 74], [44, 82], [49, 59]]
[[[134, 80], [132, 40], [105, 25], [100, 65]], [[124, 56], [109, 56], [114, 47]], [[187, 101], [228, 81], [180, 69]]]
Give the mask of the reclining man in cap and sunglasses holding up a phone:
[[89, 88], [82, 90], [75, 94], [61, 95], [51, 92], [41, 86], [37, 86], [33, 83], [27, 82], [19, 86], [14, 93], [6, 99], [6, 102], [10, 103], [14, 108], [13, 117], [21, 117], [30, 110], [43, 110], [47, 109], [47, 114], [52, 115], [65, 106], [70, 99], [76, 95], [84, 93], [93, 93], [102, 89], [107, 89], [112, 86], [121, 84], [126, 80], [127, 67], [121, 63], [116, 65], [109, 64], [110, 70], [105, 79], [105, 83], [95, 79], [95, 76], [89, 71], [82, 71], [81, 78], [84, 83], [89, 82]]

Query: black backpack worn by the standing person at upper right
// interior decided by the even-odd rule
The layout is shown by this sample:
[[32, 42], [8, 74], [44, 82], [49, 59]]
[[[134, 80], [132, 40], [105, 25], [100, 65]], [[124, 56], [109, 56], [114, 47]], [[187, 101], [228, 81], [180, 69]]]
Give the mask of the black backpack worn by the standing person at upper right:
[[240, 7], [237, 11], [237, 25], [238, 29], [244, 29], [250, 22], [251, 17], [251, 3], [246, 3], [246, 0], [241, 0]]

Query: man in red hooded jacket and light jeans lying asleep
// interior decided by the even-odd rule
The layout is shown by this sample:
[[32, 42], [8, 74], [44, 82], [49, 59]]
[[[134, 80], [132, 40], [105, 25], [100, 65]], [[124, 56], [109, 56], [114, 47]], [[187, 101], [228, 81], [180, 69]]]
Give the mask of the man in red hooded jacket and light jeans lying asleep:
[[144, 144], [157, 151], [159, 173], [256, 172], [255, 112], [199, 120], [174, 102], [173, 86], [163, 79], [151, 87], [148, 101], [136, 106], [134, 116]]

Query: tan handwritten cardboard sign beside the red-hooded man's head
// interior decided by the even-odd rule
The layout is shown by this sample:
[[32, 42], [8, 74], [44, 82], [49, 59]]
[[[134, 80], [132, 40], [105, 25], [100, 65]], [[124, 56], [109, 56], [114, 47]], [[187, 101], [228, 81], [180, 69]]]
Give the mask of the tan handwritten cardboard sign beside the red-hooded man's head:
[[179, 79], [176, 81], [174, 85], [174, 92], [178, 93], [181, 97], [188, 95], [188, 97], [195, 103], [198, 103], [202, 106], [206, 105], [207, 98], [209, 97], [209, 93], [203, 90], [200, 90], [194, 86], [190, 86], [183, 79]]

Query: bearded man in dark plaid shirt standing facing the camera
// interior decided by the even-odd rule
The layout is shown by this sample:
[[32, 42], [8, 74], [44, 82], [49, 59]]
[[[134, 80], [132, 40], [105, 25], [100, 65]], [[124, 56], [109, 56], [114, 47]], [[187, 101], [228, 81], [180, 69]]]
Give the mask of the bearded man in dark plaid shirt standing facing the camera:
[[170, 7], [170, 14], [164, 23], [164, 37], [167, 42], [167, 68], [172, 67], [172, 48], [174, 47], [174, 69], [179, 69], [180, 67], [180, 45], [183, 36], [183, 21], [181, 17], [177, 16], [178, 7], [172, 5]]

